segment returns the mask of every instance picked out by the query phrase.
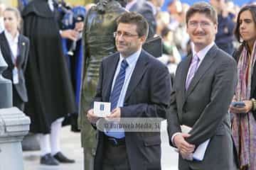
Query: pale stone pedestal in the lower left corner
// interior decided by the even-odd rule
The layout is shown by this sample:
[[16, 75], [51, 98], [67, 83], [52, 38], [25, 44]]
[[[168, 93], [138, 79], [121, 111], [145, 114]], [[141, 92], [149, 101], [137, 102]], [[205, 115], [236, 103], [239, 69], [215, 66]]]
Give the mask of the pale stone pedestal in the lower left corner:
[[0, 170], [23, 170], [21, 141], [30, 123], [18, 108], [0, 109]]

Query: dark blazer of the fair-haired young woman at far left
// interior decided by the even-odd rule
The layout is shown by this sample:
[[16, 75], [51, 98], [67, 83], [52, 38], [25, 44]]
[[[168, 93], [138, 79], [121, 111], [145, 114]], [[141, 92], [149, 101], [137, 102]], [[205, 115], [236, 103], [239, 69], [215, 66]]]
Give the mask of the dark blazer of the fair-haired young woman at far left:
[[[8, 64], [8, 68], [4, 71], [3, 76], [6, 79], [12, 81], [12, 70], [14, 69], [14, 63], [11, 60], [11, 48], [4, 35], [4, 32], [0, 34], [0, 48], [3, 54], [4, 60]], [[13, 84], [13, 90], [15, 90], [21, 101], [28, 101], [28, 95], [26, 90], [26, 84], [24, 79], [24, 72], [26, 69], [26, 63], [28, 60], [28, 50], [29, 50], [29, 40], [24, 35], [18, 36], [18, 57], [17, 57], [17, 67], [18, 67], [18, 84]]]

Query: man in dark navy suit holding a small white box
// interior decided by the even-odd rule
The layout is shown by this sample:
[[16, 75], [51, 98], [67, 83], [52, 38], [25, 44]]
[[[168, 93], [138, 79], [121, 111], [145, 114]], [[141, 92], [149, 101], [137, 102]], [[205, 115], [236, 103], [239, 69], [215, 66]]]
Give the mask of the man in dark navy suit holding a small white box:
[[[168, 69], [142, 50], [149, 31], [145, 18], [124, 13], [114, 32], [118, 53], [102, 60], [94, 101], [111, 102], [107, 118], [165, 118], [171, 85]], [[99, 119], [90, 109], [91, 123]], [[160, 132], [97, 130], [95, 169], [161, 169]]]

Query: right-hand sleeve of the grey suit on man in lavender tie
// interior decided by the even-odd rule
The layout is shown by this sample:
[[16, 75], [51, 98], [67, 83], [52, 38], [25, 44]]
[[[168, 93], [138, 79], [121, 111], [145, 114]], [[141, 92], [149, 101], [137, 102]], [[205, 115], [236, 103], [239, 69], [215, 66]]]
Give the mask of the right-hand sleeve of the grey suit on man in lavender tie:
[[228, 107], [234, 96], [238, 74], [235, 60], [226, 60], [216, 69], [212, 84], [210, 103], [201, 113], [196, 123], [193, 125], [190, 137], [186, 141], [193, 145], [200, 145], [210, 139], [223, 123], [228, 114]]

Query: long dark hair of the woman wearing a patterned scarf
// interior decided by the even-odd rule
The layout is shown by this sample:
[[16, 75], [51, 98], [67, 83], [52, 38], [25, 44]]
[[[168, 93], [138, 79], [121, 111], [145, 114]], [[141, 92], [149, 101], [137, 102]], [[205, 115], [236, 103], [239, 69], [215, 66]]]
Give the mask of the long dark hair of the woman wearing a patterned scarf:
[[239, 31], [239, 28], [240, 28], [239, 20], [240, 20], [241, 13], [244, 11], [250, 11], [250, 13], [252, 14], [252, 20], [256, 24], [256, 5], [247, 5], [247, 6], [242, 7], [238, 13], [237, 24], [236, 24], [235, 30], [234, 30], [235, 38], [238, 40], [238, 42], [241, 42], [240, 31]]

